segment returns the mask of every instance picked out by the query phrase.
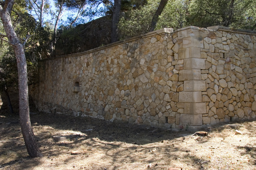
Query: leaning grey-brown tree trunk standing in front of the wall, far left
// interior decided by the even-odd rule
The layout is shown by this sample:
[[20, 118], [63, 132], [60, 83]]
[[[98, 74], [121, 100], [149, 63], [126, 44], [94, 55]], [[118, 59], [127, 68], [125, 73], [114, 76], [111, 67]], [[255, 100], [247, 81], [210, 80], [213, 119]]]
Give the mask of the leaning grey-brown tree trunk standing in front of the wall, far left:
[[11, 10], [14, 0], [6, 0], [0, 5], [0, 17], [9, 43], [12, 45], [16, 55], [18, 66], [18, 82], [19, 82], [19, 110], [20, 110], [20, 126], [24, 138], [25, 145], [30, 157], [39, 157], [42, 154], [36, 143], [34, 132], [31, 128], [29, 117], [29, 104], [28, 104], [28, 76], [27, 76], [27, 62], [24, 51], [24, 44], [18, 39], [12, 22]]

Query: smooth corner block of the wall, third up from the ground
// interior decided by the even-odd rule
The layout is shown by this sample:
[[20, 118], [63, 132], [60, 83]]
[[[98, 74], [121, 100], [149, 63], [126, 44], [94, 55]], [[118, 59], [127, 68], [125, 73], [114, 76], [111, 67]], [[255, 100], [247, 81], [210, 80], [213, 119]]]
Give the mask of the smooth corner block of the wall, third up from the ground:
[[179, 92], [179, 102], [181, 103], [201, 103], [202, 92]]

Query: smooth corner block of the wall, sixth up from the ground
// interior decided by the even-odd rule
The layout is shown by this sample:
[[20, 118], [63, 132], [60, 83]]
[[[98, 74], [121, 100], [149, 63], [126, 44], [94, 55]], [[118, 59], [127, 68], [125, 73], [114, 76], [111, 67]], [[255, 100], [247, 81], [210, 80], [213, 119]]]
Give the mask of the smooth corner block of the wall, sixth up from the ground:
[[205, 69], [205, 60], [203, 58], [184, 59], [184, 70], [186, 69]]

